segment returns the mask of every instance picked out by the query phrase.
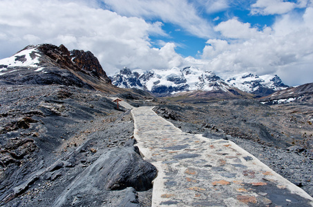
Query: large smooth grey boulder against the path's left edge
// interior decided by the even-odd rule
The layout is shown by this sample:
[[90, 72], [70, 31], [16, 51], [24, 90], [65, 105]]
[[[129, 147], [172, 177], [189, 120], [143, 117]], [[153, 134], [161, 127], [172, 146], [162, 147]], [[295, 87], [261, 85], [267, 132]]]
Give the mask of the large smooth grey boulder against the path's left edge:
[[[104, 192], [124, 189], [126, 197], [122, 199], [123, 205], [136, 204], [137, 195], [133, 192], [152, 188], [157, 170], [142, 159], [137, 146], [133, 144], [134, 140], [131, 139], [126, 142], [124, 148], [115, 148], [102, 154], [59, 195], [54, 206], [73, 205], [82, 195], [86, 203], [93, 203], [93, 199], [100, 199], [103, 203]], [[110, 199], [111, 202], [115, 200], [114, 197]], [[120, 201], [120, 198], [116, 199]]]

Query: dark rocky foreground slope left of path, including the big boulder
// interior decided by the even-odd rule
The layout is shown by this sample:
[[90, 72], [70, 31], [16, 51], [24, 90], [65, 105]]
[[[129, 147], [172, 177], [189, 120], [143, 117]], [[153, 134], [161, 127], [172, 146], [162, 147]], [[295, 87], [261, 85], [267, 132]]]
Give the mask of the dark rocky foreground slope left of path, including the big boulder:
[[7, 206], [122, 206], [156, 175], [133, 147], [129, 111], [102, 92], [1, 86], [1, 126], [0, 199]]

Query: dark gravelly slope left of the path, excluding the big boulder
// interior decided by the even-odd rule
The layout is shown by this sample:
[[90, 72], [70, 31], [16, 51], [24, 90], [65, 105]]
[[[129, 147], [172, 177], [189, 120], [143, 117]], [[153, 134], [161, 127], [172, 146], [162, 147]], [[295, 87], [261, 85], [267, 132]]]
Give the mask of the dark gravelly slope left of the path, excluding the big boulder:
[[[121, 159], [127, 157], [122, 152], [133, 137], [131, 113], [117, 110], [102, 92], [71, 86], [1, 86], [0, 104], [1, 205], [50, 206], [102, 155], [120, 150]], [[127, 206], [136, 200], [151, 206], [151, 193], [140, 190], [137, 195], [125, 188], [102, 190], [94, 198], [88, 192], [63, 196], [72, 206]]]

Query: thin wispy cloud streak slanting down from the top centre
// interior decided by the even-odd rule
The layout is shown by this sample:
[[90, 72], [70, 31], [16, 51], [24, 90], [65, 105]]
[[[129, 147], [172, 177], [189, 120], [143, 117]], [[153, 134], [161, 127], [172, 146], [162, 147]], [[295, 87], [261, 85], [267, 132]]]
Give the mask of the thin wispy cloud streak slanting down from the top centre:
[[[213, 37], [211, 23], [199, 16], [193, 4], [187, 0], [102, 0], [108, 8], [127, 17], [162, 19], [174, 23], [196, 37]], [[214, 1], [218, 4], [218, 1]]]

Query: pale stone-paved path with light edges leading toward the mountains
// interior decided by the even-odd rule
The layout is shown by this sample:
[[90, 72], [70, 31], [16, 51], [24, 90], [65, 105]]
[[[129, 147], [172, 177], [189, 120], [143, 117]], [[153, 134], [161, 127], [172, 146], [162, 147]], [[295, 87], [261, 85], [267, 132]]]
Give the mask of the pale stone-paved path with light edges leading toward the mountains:
[[152, 206], [313, 206], [313, 198], [231, 141], [184, 133], [133, 108], [135, 139], [158, 168]]

